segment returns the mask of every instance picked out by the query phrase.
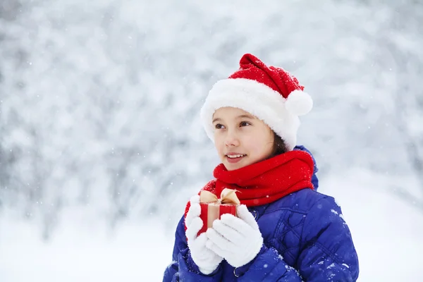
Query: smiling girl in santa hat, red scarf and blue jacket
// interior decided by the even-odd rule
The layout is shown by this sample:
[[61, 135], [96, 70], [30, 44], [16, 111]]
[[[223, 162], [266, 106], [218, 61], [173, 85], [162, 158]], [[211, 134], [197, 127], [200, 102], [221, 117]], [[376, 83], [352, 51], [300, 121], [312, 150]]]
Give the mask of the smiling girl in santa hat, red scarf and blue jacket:
[[201, 111], [221, 164], [203, 188], [238, 190], [237, 216], [202, 228], [198, 195], [176, 228], [163, 281], [356, 281], [358, 259], [341, 208], [317, 192], [314, 159], [295, 147], [312, 99], [282, 68], [251, 54], [210, 90]]

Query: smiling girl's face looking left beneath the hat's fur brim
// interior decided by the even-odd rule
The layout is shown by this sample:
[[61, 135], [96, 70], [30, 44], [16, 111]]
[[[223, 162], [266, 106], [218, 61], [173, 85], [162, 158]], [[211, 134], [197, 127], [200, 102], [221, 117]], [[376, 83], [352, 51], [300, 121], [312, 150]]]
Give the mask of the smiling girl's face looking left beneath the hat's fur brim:
[[242, 109], [218, 109], [213, 125], [214, 145], [228, 171], [267, 159], [274, 152], [274, 132]]

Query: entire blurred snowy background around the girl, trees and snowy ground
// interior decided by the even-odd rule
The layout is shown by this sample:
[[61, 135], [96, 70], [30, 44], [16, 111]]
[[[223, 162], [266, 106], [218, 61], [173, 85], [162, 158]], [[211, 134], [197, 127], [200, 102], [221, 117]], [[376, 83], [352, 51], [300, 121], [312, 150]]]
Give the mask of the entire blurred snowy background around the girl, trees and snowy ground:
[[359, 281], [423, 281], [423, 4], [0, 0], [0, 281], [161, 281], [244, 53], [314, 98], [299, 142]]

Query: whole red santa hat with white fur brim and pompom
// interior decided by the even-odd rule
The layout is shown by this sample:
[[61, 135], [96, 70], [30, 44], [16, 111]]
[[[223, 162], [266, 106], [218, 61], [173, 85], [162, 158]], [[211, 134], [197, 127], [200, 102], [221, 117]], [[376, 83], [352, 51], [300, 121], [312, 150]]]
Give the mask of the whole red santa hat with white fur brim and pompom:
[[213, 114], [231, 106], [257, 116], [269, 125], [292, 150], [297, 143], [300, 118], [313, 106], [297, 78], [282, 68], [266, 66], [252, 54], [245, 54], [240, 68], [229, 78], [219, 80], [201, 109], [201, 118], [209, 138], [214, 141]]

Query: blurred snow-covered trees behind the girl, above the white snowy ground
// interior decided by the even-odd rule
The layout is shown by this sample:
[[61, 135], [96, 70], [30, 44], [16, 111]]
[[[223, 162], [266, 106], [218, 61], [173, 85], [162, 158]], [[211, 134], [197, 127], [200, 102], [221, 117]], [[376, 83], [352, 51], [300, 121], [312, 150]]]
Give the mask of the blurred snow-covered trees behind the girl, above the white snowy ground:
[[3, 3], [0, 204], [39, 221], [44, 238], [71, 208], [111, 226], [175, 221], [218, 162], [200, 106], [245, 52], [314, 97], [300, 142], [321, 177], [422, 175], [417, 1]]

